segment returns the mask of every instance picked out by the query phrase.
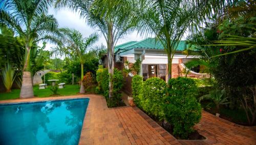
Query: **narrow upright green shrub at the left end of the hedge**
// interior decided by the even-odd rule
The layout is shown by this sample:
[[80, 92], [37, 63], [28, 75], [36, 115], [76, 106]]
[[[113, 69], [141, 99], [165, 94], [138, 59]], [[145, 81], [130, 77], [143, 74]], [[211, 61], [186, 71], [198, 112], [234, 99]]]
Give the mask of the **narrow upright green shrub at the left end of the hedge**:
[[139, 75], [135, 75], [132, 79], [132, 91], [133, 91], [133, 99], [137, 106], [140, 106], [139, 94], [141, 92], [143, 84], [143, 78]]

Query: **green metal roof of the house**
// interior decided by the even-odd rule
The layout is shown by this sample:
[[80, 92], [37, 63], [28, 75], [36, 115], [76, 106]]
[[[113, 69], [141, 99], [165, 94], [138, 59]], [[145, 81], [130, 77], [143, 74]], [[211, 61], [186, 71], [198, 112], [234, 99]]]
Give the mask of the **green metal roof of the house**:
[[[146, 38], [141, 41], [130, 41], [126, 42], [124, 44], [117, 45], [115, 47], [115, 52], [118, 50], [120, 51], [127, 51], [134, 48], [143, 48], [143, 49], [164, 49], [162, 43], [159, 40], [156, 40], [155, 38]], [[178, 51], [183, 51], [186, 49], [186, 43], [185, 41], [180, 41], [178, 44]]]

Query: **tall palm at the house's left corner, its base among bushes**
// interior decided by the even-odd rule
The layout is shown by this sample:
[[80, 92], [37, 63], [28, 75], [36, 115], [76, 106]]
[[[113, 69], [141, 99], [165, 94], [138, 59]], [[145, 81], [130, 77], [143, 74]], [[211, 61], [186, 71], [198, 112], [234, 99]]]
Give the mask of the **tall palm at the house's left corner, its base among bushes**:
[[110, 74], [109, 97], [113, 96], [114, 47], [117, 41], [131, 32], [136, 25], [135, 3], [128, 0], [59, 0], [55, 7], [69, 7], [78, 11], [80, 16], [99, 31], [105, 38], [108, 53], [108, 71]]

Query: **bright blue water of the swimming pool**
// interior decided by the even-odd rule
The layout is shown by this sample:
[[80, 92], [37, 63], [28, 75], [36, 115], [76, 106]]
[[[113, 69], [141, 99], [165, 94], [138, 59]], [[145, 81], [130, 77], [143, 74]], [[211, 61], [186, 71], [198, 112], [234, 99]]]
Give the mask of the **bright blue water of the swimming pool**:
[[0, 144], [78, 144], [89, 99], [0, 105]]

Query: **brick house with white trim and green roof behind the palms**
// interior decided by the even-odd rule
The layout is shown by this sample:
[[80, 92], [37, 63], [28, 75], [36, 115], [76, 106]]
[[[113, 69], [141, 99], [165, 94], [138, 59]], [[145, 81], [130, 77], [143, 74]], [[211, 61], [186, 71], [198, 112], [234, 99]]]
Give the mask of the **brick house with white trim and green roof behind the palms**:
[[[199, 57], [199, 55], [186, 55], [187, 44], [185, 41], [180, 41], [172, 61], [172, 78], [185, 76], [185, 63]], [[140, 75], [143, 79], [151, 77], [159, 77], [167, 82], [167, 55], [162, 43], [155, 38], [146, 38], [141, 41], [130, 41], [115, 47], [115, 68], [122, 70], [125, 61], [135, 63], [137, 59], [142, 61]], [[103, 57], [104, 67], [108, 66], [106, 56]], [[187, 77], [203, 78], [207, 74], [189, 71]], [[132, 75], [126, 77], [126, 83], [131, 83]], [[130, 90], [130, 89], [129, 89]], [[130, 92], [130, 91], [129, 91]], [[130, 94], [130, 93], [129, 93]]]

